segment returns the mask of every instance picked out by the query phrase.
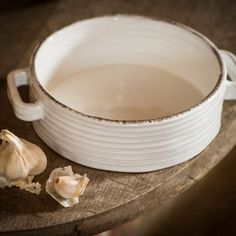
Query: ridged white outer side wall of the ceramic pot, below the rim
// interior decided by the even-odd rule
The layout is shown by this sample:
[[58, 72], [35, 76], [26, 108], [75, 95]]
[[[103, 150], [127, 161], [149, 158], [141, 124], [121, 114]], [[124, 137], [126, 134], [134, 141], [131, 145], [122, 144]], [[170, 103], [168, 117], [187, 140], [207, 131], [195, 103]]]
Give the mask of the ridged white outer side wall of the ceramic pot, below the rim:
[[132, 124], [82, 116], [33, 87], [44, 110], [33, 127], [48, 146], [77, 163], [122, 172], [162, 169], [201, 152], [219, 132], [225, 90], [222, 84], [210, 99], [175, 117]]

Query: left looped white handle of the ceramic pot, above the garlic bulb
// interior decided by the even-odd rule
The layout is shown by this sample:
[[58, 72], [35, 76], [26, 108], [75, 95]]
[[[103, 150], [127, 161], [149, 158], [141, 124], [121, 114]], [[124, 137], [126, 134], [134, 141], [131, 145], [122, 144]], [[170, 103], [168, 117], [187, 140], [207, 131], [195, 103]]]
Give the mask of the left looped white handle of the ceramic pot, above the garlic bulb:
[[43, 109], [39, 101], [25, 103], [22, 101], [18, 87], [29, 85], [28, 68], [11, 71], [7, 76], [7, 94], [16, 117], [24, 121], [42, 119]]

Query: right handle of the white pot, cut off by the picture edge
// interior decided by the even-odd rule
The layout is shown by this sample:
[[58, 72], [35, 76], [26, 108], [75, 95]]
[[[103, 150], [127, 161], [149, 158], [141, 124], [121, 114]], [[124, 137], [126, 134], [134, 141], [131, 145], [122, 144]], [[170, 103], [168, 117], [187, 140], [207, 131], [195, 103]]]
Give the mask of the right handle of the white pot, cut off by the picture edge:
[[225, 100], [236, 99], [236, 56], [228, 51], [220, 50], [221, 56], [227, 67], [230, 80], [226, 80]]

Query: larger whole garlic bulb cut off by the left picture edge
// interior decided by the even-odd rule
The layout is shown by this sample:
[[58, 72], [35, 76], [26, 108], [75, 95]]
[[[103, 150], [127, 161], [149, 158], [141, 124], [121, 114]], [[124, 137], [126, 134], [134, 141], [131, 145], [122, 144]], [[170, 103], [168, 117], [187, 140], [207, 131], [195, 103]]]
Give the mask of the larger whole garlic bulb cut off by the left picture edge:
[[39, 193], [39, 183], [34, 184], [32, 180], [46, 168], [47, 158], [44, 152], [8, 130], [0, 132], [0, 139], [3, 141], [0, 145], [0, 187], [14, 185], [25, 190], [32, 187], [32, 191], [28, 191]]

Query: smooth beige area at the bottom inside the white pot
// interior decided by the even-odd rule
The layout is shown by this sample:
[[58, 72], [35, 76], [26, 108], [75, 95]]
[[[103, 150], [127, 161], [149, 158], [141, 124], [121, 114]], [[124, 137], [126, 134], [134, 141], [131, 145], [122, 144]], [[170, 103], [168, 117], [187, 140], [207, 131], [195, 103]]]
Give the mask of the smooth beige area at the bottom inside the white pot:
[[184, 79], [160, 68], [112, 64], [82, 70], [47, 90], [84, 114], [115, 120], [145, 120], [175, 114], [204, 95]]

